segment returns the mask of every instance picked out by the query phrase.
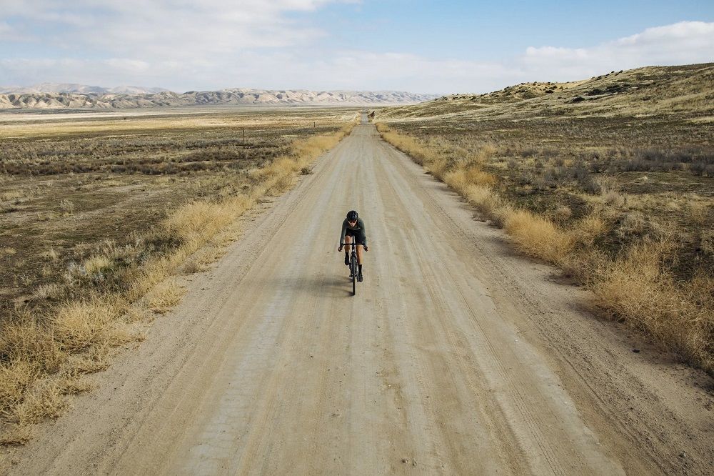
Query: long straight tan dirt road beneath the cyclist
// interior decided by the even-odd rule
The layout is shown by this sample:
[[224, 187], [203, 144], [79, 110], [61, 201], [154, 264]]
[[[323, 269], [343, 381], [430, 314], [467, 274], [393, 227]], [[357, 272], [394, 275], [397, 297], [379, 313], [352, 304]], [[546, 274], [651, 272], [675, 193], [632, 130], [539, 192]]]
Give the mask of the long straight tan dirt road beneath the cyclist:
[[373, 126], [300, 180], [12, 474], [714, 471], [710, 380], [632, 352]]

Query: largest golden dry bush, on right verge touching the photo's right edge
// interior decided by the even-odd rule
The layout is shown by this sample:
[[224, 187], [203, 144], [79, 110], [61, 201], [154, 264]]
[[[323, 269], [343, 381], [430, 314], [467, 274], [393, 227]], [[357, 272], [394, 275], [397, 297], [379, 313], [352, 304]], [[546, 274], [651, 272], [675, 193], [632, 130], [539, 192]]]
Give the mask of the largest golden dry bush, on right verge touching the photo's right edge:
[[613, 317], [711, 372], [714, 312], [695, 299], [705, 294], [702, 289], [679, 287], [663, 269], [661, 260], [671, 246], [650, 240], [635, 244], [622, 259], [601, 267], [591, 287], [600, 307]]

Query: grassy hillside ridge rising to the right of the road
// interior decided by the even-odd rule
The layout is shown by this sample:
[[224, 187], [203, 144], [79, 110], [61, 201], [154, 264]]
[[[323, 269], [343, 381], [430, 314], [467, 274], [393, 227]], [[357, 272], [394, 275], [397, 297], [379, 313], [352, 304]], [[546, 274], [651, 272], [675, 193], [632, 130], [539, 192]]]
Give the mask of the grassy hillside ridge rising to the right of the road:
[[448, 114], [493, 117], [714, 113], [714, 63], [645, 66], [569, 82], [534, 81], [486, 94], [450, 94], [418, 106], [384, 111], [389, 117]]

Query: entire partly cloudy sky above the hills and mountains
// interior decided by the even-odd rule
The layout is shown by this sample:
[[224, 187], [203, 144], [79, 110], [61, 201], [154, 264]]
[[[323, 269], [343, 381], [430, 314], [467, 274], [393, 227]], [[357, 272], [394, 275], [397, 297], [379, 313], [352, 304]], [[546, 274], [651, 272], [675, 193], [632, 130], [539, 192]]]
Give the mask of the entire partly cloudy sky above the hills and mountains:
[[0, 85], [486, 92], [714, 61], [713, 1], [0, 0]]

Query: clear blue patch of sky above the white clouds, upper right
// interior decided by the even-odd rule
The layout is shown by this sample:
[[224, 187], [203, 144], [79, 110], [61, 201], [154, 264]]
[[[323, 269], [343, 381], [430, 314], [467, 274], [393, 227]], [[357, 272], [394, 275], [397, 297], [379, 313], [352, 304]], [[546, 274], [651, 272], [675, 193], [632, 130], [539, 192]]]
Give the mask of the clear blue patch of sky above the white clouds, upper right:
[[[678, 21], [714, 21], [714, 1], [368, 1], [317, 11], [336, 43], [498, 59], [527, 46], [593, 46]], [[494, 41], [495, 40], [495, 41]]]

